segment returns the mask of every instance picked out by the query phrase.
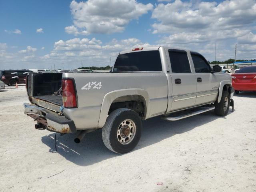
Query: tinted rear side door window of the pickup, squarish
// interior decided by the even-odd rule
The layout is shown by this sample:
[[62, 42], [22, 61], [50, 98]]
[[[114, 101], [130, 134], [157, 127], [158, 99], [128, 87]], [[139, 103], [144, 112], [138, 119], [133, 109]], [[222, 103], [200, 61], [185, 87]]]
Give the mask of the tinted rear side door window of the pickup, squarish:
[[169, 50], [173, 73], [191, 73], [188, 54], [183, 50]]

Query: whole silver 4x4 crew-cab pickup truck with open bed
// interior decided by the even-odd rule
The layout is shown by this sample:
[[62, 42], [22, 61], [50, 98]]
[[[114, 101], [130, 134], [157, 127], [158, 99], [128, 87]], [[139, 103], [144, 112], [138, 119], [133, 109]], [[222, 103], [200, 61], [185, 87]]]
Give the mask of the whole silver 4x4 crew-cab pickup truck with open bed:
[[231, 76], [220, 70], [190, 50], [126, 50], [109, 73], [30, 72], [25, 114], [37, 121], [36, 129], [80, 132], [77, 143], [102, 128], [106, 147], [126, 153], [140, 140], [142, 120], [176, 121], [209, 110], [226, 116], [234, 91]]

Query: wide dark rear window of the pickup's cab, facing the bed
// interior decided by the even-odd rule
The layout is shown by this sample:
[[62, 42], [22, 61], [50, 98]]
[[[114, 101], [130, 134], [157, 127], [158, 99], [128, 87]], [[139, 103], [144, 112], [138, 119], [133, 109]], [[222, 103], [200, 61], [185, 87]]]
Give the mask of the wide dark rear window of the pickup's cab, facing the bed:
[[159, 51], [139, 51], [118, 55], [113, 72], [133, 71], [162, 71]]

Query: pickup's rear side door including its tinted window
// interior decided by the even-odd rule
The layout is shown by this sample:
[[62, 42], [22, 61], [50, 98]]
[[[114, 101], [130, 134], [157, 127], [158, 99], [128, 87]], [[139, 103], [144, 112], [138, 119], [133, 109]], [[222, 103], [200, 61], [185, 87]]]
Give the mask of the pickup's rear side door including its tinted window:
[[196, 76], [192, 73], [188, 54], [184, 50], [169, 49], [172, 78], [172, 107], [170, 111], [194, 106]]

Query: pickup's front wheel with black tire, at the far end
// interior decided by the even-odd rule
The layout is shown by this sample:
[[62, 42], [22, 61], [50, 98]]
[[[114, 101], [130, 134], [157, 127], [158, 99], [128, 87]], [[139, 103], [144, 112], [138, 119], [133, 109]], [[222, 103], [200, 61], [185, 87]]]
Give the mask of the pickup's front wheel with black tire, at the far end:
[[[227, 101], [226, 101], [227, 100]], [[227, 106], [226, 106], [226, 102]], [[221, 100], [215, 102], [214, 112], [218, 116], [226, 116], [230, 107], [230, 94], [227, 91], [222, 92]]]

